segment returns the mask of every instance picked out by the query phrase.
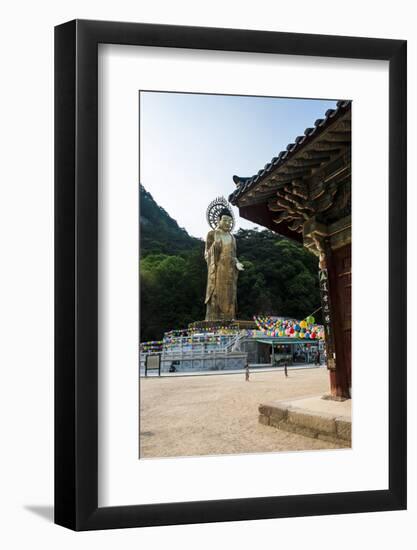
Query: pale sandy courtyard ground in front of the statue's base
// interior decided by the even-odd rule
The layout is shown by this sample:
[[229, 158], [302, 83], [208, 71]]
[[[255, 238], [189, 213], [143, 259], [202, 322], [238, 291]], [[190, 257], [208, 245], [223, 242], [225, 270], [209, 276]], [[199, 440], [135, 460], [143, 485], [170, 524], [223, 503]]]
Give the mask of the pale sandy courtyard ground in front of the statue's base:
[[140, 457], [334, 449], [337, 445], [263, 426], [261, 402], [328, 391], [325, 368], [140, 379]]

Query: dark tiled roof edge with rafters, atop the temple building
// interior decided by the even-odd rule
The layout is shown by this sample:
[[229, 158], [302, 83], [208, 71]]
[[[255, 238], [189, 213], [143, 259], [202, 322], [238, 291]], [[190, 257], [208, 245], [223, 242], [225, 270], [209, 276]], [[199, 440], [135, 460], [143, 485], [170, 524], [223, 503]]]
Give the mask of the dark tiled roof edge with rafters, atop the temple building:
[[[282, 181], [310, 175], [312, 170], [323, 164], [329, 156], [334, 157], [338, 150], [346, 148], [347, 145], [350, 146], [350, 112], [351, 101], [338, 101], [336, 109], [327, 110], [325, 118], [316, 120], [314, 127], [306, 128], [304, 135], [296, 137], [294, 143], [288, 144], [285, 151], [281, 151], [271, 159], [257, 174], [250, 177], [233, 176], [236, 190], [229, 196], [229, 201], [234, 205], [242, 206], [240, 200], [248, 195], [251, 202], [250, 191], [255, 188], [267, 190], [267, 188], [262, 189], [262, 184], [264, 182], [268, 184], [268, 180], [271, 183], [280, 172], [285, 172], [285, 176], [281, 177]], [[336, 124], [342, 119], [345, 120], [344, 125]], [[329, 131], [333, 129], [335, 132]], [[320, 139], [321, 137], [323, 140]], [[315, 146], [310, 148], [309, 145], [313, 143]], [[273, 185], [273, 187], [276, 186]]]

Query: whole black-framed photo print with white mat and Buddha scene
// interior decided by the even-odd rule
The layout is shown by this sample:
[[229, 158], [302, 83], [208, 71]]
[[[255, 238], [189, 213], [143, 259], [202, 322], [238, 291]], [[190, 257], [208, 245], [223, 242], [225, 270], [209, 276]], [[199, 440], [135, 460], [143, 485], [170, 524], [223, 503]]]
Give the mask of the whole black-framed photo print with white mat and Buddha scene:
[[406, 42], [55, 30], [55, 521], [406, 507]]

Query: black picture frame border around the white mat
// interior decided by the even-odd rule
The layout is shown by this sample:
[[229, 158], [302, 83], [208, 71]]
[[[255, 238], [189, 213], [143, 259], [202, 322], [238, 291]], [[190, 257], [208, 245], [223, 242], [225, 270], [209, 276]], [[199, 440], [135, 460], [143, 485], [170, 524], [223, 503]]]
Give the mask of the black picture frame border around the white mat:
[[55, 522], [74, 530], [406, 508], [406, 334], [389, 347], [389, 488], [98, 507], [98, 44], [389, 62], [389, 315], [406, 326], [406, 41], [74, 20], [55, 28]]

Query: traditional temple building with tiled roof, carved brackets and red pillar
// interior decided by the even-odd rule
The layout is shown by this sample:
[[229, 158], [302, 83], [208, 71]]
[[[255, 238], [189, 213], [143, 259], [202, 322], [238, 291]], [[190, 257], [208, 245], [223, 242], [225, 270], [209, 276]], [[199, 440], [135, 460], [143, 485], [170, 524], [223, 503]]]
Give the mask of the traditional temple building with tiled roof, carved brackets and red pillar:
[[240, 215], [303, 243], [319, 257], [331, 396], [351, 396], [351, 109], [306, 128], [251, 177], [234, 176]]

